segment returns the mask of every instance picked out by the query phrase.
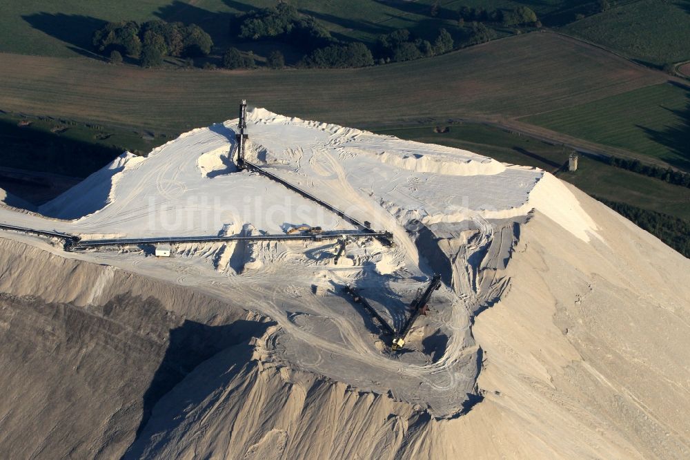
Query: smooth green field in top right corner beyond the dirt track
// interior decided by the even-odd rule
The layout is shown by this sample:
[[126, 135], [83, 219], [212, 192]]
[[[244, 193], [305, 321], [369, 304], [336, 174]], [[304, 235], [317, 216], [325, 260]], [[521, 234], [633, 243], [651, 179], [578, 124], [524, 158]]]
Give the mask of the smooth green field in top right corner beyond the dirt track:
[[636, 0], [569, 24], [564, 32], [644, 64], [690, 60], [690, 0]]

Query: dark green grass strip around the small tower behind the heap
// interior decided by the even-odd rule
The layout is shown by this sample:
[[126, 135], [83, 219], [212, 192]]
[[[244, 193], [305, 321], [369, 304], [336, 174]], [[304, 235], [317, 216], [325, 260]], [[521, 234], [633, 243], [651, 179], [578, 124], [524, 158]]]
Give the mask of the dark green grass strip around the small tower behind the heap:
[[[507, 133], [492, 126], [473, 123], [443, 126], [449, 126], [450, 131], [434, 133], [435, 125], [373, 128], [373, 131], [402, 139], [464, 148], [500, 162], [535, 166], [551, 172], [564, 164], [570, 153], [562, 146]], [[589, 195], [690, 220], [690, 189], [687, 187], [614, 168], [582, 155], [578, 163], [578, 171], [559, 171], [558, 177]]]

